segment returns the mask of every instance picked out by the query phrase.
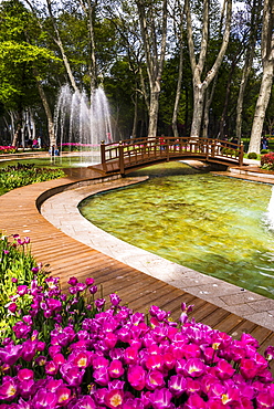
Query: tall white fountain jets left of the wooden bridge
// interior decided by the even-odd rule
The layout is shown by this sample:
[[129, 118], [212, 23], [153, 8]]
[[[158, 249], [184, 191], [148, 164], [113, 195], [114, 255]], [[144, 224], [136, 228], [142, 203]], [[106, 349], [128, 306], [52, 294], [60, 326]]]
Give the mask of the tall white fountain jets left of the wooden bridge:
[[82, 155], [88, 151], [91, 159], [98, 156], [101, 141], [112, 141], [109, 107], [104, 90], [95, 90], [89, 103], [85, 91], [72, 92], [68, 85], [62, 86], [55, 106], [54, 129], [61, 156], [66, 144], [70, 150], [77, 146]]

